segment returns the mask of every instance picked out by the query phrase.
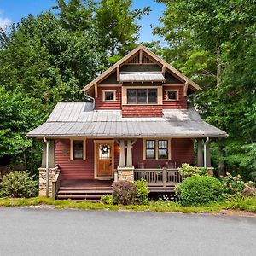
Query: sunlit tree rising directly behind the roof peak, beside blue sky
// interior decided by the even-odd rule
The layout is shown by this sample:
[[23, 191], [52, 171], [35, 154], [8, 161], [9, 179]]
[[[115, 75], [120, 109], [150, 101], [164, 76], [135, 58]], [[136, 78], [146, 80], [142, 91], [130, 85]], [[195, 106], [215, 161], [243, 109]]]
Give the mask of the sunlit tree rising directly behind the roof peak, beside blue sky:
[[150, 11], [131, 7], [131, 0], [102, 0], [96, 9], [96, 32], [111, 64], [135, 48], [140, 29], [137, 20]]

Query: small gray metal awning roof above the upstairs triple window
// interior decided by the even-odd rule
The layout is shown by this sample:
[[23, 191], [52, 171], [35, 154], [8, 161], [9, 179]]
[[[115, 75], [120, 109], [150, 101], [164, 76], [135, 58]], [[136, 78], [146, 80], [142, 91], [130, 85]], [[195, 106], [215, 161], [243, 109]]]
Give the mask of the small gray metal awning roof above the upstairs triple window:
[[121, 72], [120, 83], [123, 82], [165, 82], [166, 79], [160, 72]]

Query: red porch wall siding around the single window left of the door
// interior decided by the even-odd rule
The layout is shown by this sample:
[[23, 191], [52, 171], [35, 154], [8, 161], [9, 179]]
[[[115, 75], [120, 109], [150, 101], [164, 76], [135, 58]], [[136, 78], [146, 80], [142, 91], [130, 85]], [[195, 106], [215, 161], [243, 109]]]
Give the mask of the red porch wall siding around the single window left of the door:
[[61, 168], [62, 179], [94, 178], [93, 140], [86, 140], [86, 160], [70, 160], [70, 141], [59, 141], [55, 146], [55, 163]]

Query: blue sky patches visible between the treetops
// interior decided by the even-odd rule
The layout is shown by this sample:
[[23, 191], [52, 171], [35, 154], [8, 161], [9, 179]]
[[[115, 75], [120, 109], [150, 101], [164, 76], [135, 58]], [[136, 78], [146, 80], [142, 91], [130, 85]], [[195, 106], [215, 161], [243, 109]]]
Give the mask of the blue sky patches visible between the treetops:
[[[22, 17], [29, 14], [38, 15], [47, 11], [55, 5], [54, 0], [0, 0], [0, 27], [5, 27], [11, 23], [17, 23]], [[160, 25], [158, 19], [162, 15], [165, 5], [155, 3], [154, 0], [133, 0], [134, 8], [143, 8], [150, 6], [152, 9], [150, 15], [145, 15], [142, 20], [138, 21], [141, 26], [141, 42], [151, 42], [152, 40], [161, 40], [153, 36], [150, 24]]]

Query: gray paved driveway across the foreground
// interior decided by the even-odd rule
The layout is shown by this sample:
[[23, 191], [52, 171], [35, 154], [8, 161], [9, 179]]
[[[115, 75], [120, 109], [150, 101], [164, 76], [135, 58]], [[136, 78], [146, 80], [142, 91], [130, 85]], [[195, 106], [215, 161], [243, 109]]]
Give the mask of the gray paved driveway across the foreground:
[[0, 208], [0, 255], [255, 255], [256, 218]]

